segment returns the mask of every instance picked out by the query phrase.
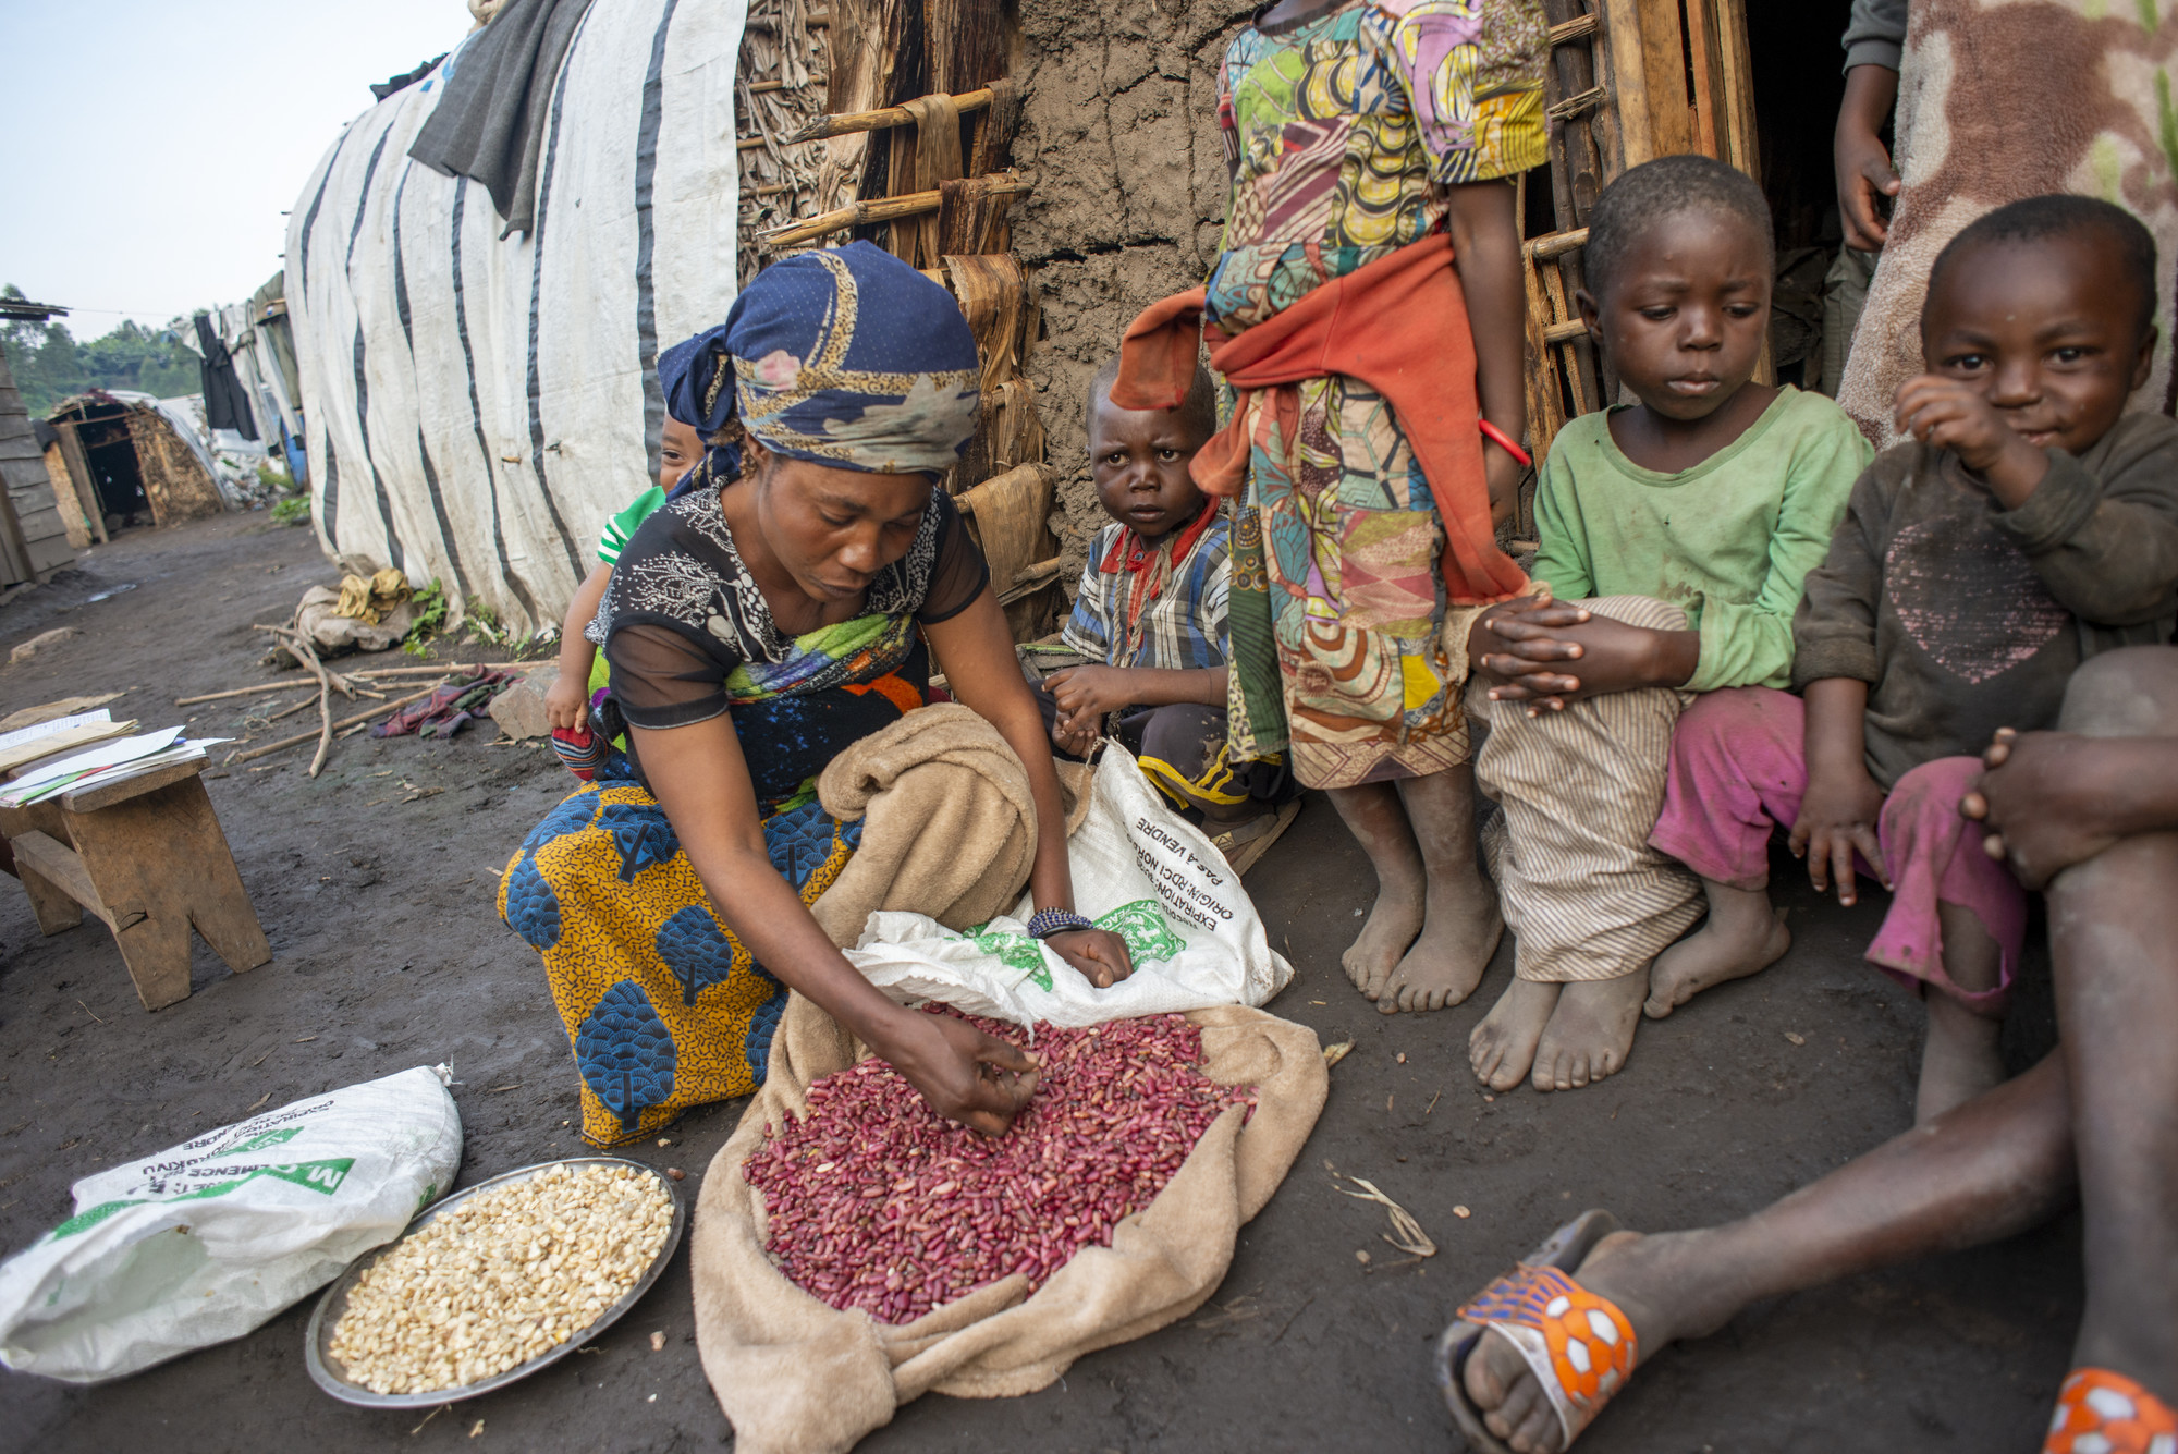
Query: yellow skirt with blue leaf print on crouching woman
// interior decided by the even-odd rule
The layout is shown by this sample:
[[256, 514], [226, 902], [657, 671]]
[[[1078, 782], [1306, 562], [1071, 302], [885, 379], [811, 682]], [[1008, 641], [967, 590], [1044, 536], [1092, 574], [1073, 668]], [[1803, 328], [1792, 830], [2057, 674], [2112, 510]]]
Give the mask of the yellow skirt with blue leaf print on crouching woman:
[[[862, 840], [815, 799], [764, 818], [804, 903]], [[582, 1136], [610, 1147], [764, 1082], [786, 988], [725, 927], [664, 808], [614, 753], [523, 840], [499, 916], [544, 956], [582, 1075]]]

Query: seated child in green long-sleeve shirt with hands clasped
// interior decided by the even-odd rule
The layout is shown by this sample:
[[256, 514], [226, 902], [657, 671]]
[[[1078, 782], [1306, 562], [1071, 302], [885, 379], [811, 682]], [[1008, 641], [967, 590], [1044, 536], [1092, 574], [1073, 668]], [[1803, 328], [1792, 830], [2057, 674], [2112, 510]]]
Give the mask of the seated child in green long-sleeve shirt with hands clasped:
[[1790, 686], [1801, 581], [1871, 455], [1827, 398], [1753, 381], [1771, 215], [1749, 176], [1634, 168], [1596, 200], [1586, 266], [1581, 318], [1640, 403], [1557, 435], [1535, 490], [1549, 596], [1468, 638], [1477, 781], [1503, 808], [1483, 842], [1518, 936], [1468, 1049], [1501, 1090], [1625, 1064], [1649, 964], [1703, 905], [1649, 847], [1673, 725], [1697, 692]]

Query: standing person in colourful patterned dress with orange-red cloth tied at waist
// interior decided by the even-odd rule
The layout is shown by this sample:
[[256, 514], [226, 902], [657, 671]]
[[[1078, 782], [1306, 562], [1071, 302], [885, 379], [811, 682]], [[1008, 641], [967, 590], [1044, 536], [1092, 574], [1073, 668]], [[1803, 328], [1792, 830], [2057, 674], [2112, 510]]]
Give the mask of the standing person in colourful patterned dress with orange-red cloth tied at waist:
[[1376, 868], [1346, 973], [1379, 1010], [1475, 993], [1503, 919], [1459, 705], [1527, 455], [1512, 178], [1546, 159], [1538, 0], [1276, 0], [1226, 50], [1209, 285], [1128, 331], [1113, 401], [1170, 407], [1196, 309], [1233, 416], [1196, 457], [1233, 529], [1233, 751], [1285, 751]]

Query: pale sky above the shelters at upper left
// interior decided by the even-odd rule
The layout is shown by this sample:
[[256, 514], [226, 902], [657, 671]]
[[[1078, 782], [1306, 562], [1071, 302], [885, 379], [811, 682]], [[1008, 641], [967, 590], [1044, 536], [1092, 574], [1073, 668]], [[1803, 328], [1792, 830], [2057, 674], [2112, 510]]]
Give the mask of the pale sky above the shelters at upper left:
[[470, 26], [462, 0], [0, 0], [0, 283], [78, 340], [248, 298], [370, 83]]

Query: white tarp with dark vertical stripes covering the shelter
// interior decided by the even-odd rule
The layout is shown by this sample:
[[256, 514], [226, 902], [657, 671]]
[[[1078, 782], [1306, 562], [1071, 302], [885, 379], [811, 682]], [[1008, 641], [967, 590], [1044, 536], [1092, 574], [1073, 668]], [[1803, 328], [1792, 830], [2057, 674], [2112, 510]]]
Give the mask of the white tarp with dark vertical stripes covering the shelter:
[[287, 226], [327, 553], [516, 629], [558, 620], [599, 527], [656, 472], [658, 350], [734, 303], [743, 17], [743, 0], [590, 7], [529, 235], [501, 242], [479, 183], [407, 155], [475, 39], [348, 124]]

